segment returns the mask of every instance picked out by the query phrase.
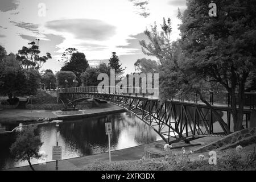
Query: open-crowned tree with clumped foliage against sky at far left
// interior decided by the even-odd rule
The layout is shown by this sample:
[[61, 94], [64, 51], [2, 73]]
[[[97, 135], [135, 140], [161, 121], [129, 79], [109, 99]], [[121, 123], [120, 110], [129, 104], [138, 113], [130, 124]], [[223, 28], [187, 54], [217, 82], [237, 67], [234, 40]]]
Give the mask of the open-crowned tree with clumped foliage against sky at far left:
[[30, 47], [23, 46], [18, 51], [16, 59], [20, 61], [20, 65], [26, 70], [30, 68], [40, 69], [48, 59], [52, 59], [50, 53], [46, 53], [45, 56], [39, 56], [39, 47], [35, 45], [35, 42], [28, 43]]

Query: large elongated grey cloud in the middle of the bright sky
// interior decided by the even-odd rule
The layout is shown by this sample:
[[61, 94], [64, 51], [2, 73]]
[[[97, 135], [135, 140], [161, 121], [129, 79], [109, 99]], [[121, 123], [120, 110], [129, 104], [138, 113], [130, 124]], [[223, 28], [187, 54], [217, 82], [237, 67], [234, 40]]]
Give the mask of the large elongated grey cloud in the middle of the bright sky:
[[77, 39], [107, 40], [115, 35], [115, 27], [97, 19], [52, 20], [46, 27], [55, 31], [69, 32]]

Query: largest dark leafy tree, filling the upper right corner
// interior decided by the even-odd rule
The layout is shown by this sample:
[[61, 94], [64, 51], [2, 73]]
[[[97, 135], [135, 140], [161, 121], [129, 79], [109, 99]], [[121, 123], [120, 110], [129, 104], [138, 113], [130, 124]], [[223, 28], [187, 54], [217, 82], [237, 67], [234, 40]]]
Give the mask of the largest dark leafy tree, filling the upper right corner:
[[256, 68], [256, 2], [216, 0], [217, 17], [209, 17], [208, 3], [188, 1], [181, 18], [184, 65], [197, 78], [224, 86], [237, 131], [243, 128], [246, 80]]

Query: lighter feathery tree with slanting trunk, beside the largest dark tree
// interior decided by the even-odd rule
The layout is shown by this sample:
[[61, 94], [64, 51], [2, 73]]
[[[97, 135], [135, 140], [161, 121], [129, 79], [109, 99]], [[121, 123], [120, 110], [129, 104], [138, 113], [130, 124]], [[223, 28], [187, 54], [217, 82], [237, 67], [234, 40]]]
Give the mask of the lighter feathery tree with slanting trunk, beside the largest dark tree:
[[[210, 85], [204, 80], [197, 77], [195, 73], [189, 73], [188, 68], [184, 64], [185, 56], [180, 46], [180, 41], [171, 43], [171, 20], [163, 19], [161, 31], [158, 31], [156, 23], [151, 26], [151, 30], [146, 30], [144, 33], [150, 40], [149, 43], [142, 40], [140, 44], [143, 52], [148, 56], [155, 56], [159, 59], [159, 90], [160, 99], [167, 100], [172, 97], [180, 97], [191, 99], [196, 92], [201, 93], [203, 90], [209, 90]], [[202, 94], [200, 96], [203, 96]], [[214, 114], [217, 115], [219, 123], [224, 131], [229, 133], [228, 126], [221, 118], [221, 115], [214, 110], [204, 97], [200, 97], [201, 101], [205, 102], [212, 108]]]

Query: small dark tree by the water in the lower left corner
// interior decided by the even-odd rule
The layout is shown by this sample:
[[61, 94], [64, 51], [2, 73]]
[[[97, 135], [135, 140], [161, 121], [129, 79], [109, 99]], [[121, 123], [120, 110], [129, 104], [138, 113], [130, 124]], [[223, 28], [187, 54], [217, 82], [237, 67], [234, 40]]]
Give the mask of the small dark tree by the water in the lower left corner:
[[39, 150], [43, 144], [40, 137], [35, 135], [35, 129], [35, 126], [23, 127], [22, 132], [19, 133], [10, 147], [11, 154], [15, 156], [15, 159], [17, 161], [27, 161], [33, 171], [35, 169], [30, 160], [31, 158], [39, 159], [42, 156], [39, 154]]

